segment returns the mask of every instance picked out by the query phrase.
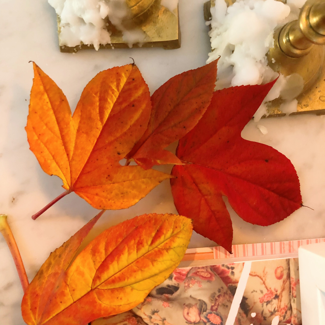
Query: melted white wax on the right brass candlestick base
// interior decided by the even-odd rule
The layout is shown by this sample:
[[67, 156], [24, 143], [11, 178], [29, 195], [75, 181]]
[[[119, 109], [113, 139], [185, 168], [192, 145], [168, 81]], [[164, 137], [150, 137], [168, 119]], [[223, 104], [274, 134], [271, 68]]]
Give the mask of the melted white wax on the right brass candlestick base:
[[[287, 5], [275, 0], [239, 0], [227, 7], [224, 0], [216, 0], [211, 8], [211, 48], [207, 63], [220, 57], [216, 89], [240, 85], [265, 84], [278, 77], [267, 66], [266, 53], [273, 47], [276, 28], [297, 19], [305, 0], [288, 0]], [[297, 75], [280, 75], [254, 115], [259, 121], [266, 113], [267, 101], [281, 96], [286, 113], [296, 111], [294, 99], [303, 88]]]

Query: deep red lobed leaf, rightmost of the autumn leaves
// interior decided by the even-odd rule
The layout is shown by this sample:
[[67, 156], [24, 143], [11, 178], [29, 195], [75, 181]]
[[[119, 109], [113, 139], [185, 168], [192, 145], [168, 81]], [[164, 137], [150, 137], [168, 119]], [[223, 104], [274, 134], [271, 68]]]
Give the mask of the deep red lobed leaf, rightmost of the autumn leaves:
[[216, 91], [176, 150], [177, 157], [188, 162], [172, 170], [178, 213], [192, 218], [195, 231], [229, 252], [232, 225], [222, 195], [243, 220], [261, 226], [283, 220], [302, 205], [290, 160], [240, 136], [273, 83]]

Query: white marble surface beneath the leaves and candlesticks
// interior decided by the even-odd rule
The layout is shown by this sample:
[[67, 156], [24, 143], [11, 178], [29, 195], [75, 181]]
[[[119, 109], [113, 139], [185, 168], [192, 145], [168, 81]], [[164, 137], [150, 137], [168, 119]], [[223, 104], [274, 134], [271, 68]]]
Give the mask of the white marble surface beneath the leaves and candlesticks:
[[[0, 0], [0, 213], [8, 220], [30, 280], [49, 253], [96, 214], [75, 194], [56, 203], [36, 221], [31, 215], [59, 195], [61, 180], [45, 174], [27, 143], [26, 118], [34, 60], [63, 90], [75, 107], [87, 82], [101, 70], [134, 58], [151, 93], [173, 75], [205, 63], [210, 50], [202, 6], [204, 0], [180, 0], [182, 47], [166, 51], [121, 49], [59, 52], [56, 16], [46, 0]], [[263, 135], [257, 125], [264, 125]], [[301, 208], [269, 227], [253, 226], [231, 213], [233, 243], [290, 240], [325, 236], [325, 118], [313, 115], [250, 122], [246, 139], [268, 144], [291, 159], [301, 182]], [[162, 170], [169, 171], [165, 166]], [[164, 181], [135, 206], [107, 211], [94, 234], [104, 227], [143, 213], [176, 213], [170, 185]], [[190, 247], [214, 243], [194, 234]], [[22, 289], [9, 250], [0, 236], [0, 324], [24, 324], [20, 314]]]

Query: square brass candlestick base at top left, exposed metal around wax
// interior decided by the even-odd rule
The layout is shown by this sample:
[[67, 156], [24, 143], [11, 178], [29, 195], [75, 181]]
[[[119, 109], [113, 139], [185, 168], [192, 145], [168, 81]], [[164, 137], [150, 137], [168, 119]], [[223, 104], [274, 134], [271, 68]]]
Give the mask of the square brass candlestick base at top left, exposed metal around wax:
[[[134, 44], [133, 47], [162, 47], [175, 49], [181, 46], [181, 33], [179, 28], [178, 7], [174, 12], [160, 5], [160, 0], [126, 0], [130, 7], [132, 17], [125, 21], [128, 27], [140, 28], [146, 34], [146, 42]], [[58, 17], [58, 34], [60, 34], [60, 20]], [[129, 48], [123, 41], [122, 32], [107, 20], [107, 29], [110, 32], [111, 44], [101, 44], [99, 48]], [[81, 49], [94, 49], [93, 45], [80, 44], [69, 47], [60, 45], [60, 51], [74, 53]]]

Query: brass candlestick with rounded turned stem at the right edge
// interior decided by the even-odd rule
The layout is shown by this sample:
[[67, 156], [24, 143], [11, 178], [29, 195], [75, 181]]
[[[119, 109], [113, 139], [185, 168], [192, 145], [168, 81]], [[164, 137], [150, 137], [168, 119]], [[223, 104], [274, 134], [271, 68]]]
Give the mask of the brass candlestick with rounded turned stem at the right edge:
[[[280, 1], [280, 0], [279, 0]], [[232, 0], [226, 0], [232, 5]], [[282, 1], [283, 2], [283, 1]], [[204, 5], [204, 17], [209, 20], [210, 6]], [[301, 79], [297, 92], [298, 107], [295, 114], [325, 114], [325, 1], [308, 0], [294, 20], [274, 34], [274, 47], [267, 53], [268, 65], [284, 76], [294, 74]], [[298, 78], [297, 78], [298, 77]], [[283, 116], [280, 105], [287, 98], [277, 98], [268, 103], [268, 117]]]

